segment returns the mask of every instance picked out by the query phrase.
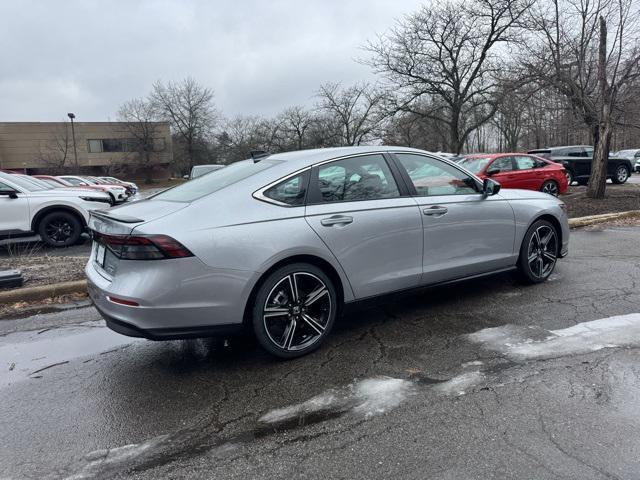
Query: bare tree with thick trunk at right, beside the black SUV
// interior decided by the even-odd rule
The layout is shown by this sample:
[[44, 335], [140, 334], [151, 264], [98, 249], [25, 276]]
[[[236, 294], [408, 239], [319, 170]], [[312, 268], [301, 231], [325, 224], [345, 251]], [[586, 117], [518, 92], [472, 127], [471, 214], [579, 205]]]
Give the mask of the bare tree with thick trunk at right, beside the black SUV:
[[[552, 0], [532, 12], [524, 64], [571, 104], [594, 145], [587, 195], [603, 198], [615, 112], [621, 93], [640, 78], [638, 6], [632, 0]], [[608, 25], [616, 32], [608, 42]]]

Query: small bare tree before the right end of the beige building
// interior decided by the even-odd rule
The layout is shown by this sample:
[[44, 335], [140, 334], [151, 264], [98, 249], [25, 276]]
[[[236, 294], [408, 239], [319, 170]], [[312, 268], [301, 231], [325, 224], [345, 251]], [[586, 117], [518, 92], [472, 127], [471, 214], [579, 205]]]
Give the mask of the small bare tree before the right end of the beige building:
[[160, 152], [166, 149], [166, 145], [160, 144], [161, 123], [158, 122], [154, 104], [144, 98], [129, 100], [118, 110], [118, 120], [123, 122], [129, 136], [127, 141], [131, 142], [126, 150], [136, 155], [136, 170], [143, 171], [145, 181], [151, 183], [153, 164], [157, 162]]

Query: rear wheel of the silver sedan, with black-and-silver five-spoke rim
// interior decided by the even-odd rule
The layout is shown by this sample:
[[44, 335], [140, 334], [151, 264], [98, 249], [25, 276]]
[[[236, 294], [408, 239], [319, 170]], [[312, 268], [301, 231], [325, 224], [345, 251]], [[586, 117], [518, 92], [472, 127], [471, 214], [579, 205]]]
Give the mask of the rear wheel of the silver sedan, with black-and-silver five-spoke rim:
[[260, 345], [280, 358], [297, 358], [317, 349], [333, 328], [338, 296], [333, 282], [314, 265], [279, 268], [259, 287], [253, 330]]

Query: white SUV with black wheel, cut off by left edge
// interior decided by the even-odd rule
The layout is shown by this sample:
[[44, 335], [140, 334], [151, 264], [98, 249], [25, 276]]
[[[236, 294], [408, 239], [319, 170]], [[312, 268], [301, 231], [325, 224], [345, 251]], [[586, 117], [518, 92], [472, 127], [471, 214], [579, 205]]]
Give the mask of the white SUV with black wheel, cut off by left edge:
[[103, 192], [50, 189], [35, 179], [0, 172], [0, 239], [37, 233], [48, 245], [67, 247], [86, 228], [89, 210], [110, 204]]

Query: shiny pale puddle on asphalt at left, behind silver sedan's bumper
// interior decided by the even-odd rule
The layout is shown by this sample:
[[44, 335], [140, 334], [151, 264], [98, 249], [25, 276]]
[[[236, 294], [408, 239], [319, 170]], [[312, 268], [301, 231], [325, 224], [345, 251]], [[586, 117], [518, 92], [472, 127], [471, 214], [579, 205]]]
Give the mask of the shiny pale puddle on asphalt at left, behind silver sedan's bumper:
[[138, 339], [112, 332], [101, 322], [16, 332], [0, 341], [0, 388], [32, 378], [80, 357], [124, 347]]

